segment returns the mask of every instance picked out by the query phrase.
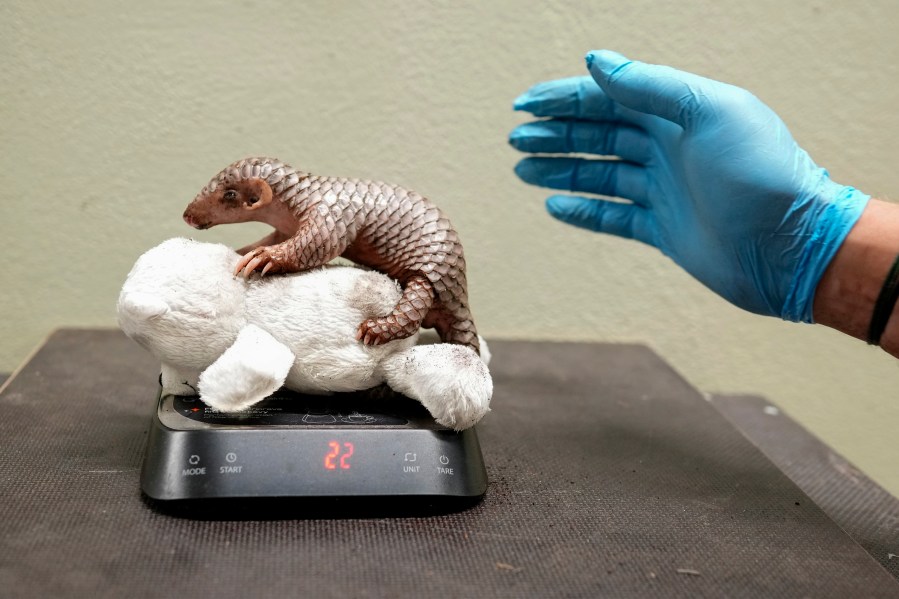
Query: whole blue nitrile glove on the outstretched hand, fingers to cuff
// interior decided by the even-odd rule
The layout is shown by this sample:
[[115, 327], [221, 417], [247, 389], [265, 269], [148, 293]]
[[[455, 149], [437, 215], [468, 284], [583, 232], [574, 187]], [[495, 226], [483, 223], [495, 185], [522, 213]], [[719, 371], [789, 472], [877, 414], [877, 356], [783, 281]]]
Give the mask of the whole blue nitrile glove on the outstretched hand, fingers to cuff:
[[552, 118], [509, 141], [605, 159], [525, 158], [515, 172], [629, 202], [557, 195], [550, 214], [653, 245], [741, 308], [812, 322], [818, 281], [868, 196], [831, 181], [743, 89], [608, 50], [587, 65], [592, 78], [540, 83], [515, 100]]

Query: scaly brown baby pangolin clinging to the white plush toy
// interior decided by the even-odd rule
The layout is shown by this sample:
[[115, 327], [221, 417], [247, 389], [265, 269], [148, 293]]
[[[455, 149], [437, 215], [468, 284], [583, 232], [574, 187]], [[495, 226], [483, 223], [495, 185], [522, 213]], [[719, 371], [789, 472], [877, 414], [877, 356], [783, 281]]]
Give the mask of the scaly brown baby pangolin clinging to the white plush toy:
[[343, 256], [397, 279], [393, 312], [359, 325], [356, 338], [379, 345], [420, 326], [440, 339], [480, 350], [468, 308], [465, 257], [443, 212], [421, 195], [379, 181], [323, 177], [274, 158], [228, 166], [184, 211], [197, 229], [247, 221], [275, 230], [238, 250], [235, 274], [308, 270]]

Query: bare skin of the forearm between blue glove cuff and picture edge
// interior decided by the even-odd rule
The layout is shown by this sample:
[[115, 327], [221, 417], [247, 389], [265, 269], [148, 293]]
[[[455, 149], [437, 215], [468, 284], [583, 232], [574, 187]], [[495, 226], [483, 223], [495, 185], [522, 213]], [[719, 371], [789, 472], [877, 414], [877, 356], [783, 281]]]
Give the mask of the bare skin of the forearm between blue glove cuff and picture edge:
[[[899, 255], [899, 205], [872, 199], [849, 232], [815, 292], [819, 324], [867, 339], [874, 305]], [[899, 306], [880, 339], [899, 358]]]

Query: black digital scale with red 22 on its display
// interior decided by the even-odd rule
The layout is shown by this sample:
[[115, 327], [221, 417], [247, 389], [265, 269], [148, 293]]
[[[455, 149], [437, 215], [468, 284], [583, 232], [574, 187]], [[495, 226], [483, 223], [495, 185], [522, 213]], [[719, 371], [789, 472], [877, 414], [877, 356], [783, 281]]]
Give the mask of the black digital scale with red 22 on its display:
[[141, 489], [199, 516], [263, 509], [447, 511], [477, 503], [487, 473], [474, 428], [455, 432], [416, 401], [281, 390], [239, 414], [162, 395]]

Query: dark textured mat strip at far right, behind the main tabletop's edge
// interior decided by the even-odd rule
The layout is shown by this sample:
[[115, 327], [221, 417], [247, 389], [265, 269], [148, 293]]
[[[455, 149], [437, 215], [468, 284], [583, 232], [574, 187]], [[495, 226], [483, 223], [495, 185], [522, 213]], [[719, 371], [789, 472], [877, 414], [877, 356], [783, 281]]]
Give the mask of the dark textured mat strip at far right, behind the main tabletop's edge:
[[899, 579], [899, 499], [765, 398], [713, 395], [712, 405]]

